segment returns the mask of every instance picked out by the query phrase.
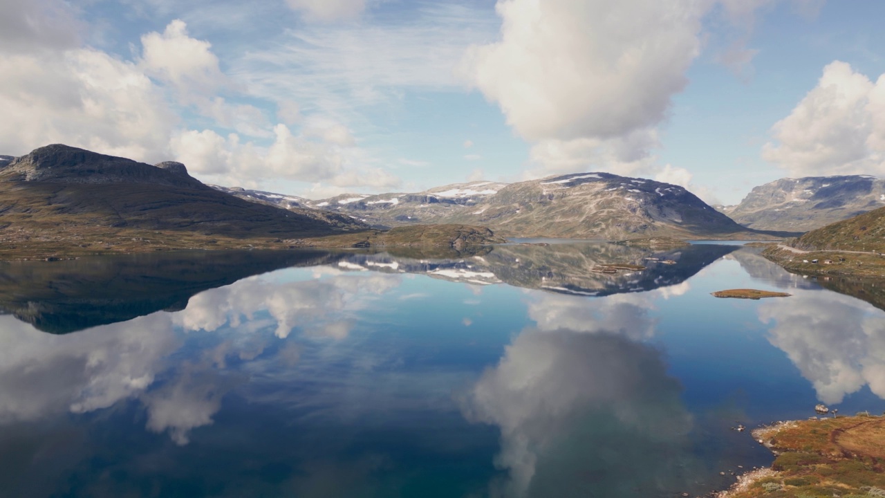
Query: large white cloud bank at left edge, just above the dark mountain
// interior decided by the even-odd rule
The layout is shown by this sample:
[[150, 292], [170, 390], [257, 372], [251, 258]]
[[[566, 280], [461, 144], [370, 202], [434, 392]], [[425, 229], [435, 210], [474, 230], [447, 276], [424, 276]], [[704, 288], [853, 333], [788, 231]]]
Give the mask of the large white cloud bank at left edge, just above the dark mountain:
[[102, 51], [0, 52], [0, 150], [63, 143], [151, 162], [168, 159], [178, 121], [132, 63]]

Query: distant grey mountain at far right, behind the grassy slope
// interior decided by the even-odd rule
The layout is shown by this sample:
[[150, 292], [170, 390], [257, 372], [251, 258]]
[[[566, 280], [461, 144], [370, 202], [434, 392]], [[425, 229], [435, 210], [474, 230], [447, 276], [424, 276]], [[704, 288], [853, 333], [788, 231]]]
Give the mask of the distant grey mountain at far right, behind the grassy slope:
[[885, 180], [867, 175], [782, 178], [720, 211], [755, 230], [804, 232], [885, 206]]

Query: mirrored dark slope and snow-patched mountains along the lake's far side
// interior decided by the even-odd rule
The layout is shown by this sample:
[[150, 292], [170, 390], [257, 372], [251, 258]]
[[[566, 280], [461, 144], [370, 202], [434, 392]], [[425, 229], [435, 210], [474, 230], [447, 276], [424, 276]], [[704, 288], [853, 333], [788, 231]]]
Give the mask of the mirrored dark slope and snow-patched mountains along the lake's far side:
[[[471, 284], [506, 283], [550, 292], [608, 295], [678, 284], [734, 246], [698, 246], [650, 252], [620, 245], [503, 245], [480, 254], [219, 251], [84, 257], [52, 263], [0, 263], [0, 310], [41, 331], [68, 333], [131, 320], [156, 311], [180, 311], [199, 292], [280, 268], [337, 262], [338, 268], [423, 273]], [[676, 265], [647, 261], [675, 260]], [[645, 264], [642, 272], [600, 274], [605, 263]], [[358, 269], [357, 268], [357, 269]]]

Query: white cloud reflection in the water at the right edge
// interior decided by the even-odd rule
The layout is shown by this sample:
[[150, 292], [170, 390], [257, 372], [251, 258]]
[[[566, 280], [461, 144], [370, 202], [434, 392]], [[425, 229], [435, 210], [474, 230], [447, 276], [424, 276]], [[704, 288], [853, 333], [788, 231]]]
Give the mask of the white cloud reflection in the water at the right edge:
[[769, 341], [781, 348], [820, 401], [839, 403], [864, 385], [885, 399], [883, 317], [863, 301], [797, 290], [789, 307], [765, 303], [759, 320], [773, 322]]

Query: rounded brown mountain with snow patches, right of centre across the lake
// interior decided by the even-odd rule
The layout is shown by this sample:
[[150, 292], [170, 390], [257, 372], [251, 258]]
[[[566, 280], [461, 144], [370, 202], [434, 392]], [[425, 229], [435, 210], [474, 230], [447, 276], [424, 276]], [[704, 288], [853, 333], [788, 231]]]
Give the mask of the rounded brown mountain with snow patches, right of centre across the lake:
[[691, 192], [609, 173], [512, 183], [451, 218], [519, 237], [724, 237], [748, 234]]

